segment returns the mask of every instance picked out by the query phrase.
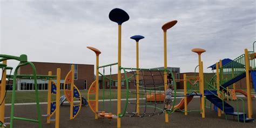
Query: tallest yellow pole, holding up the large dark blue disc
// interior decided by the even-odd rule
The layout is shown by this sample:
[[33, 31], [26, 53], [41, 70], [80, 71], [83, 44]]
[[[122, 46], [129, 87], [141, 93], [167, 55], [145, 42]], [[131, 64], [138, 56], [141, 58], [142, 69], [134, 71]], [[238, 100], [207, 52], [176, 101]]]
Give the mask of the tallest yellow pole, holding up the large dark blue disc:
[[[118, 74], [117, 74], [117, 116], [121, 113], [121, 25], [118, 25]], [[117, 127], [121, 127], [121, 118], [117, 118]]]

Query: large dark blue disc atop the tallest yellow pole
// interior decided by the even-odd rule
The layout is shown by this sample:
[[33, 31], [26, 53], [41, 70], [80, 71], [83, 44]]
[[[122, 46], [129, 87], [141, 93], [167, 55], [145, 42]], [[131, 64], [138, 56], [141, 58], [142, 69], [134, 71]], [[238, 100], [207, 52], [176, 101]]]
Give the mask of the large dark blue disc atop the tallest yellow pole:
[[113, 22], [116, 22], [118, 25], [129, 20], [129, 15], [122, 9], [113, 9], [109, 12], [109, 19]]

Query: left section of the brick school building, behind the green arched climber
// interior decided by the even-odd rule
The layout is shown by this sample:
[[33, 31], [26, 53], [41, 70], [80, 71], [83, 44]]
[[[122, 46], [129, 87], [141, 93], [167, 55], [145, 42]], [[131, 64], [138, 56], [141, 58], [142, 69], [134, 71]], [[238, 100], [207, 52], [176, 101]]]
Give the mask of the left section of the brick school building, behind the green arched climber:
[[[46, 63], [46, 62], [32, 62], [36, 66], [37, 75], [48, 75], [49, 71], [52, 71], [52, 75], [56, 75], [57, 68], [61, 69], [60, 89], [63, 89], [64, 79], [67, 73], [71, 69], [72, 64], [65, 63]], [[91, 83], [94, 80], [94, 65], [89, 64], [74, 64], [75, 65], [75, 85], [78, 89], [89, 89]], [[30, 75], [32, 69], [29, 65], [22, 66], [18, 70], [18, 74]], [[37, 80], [39, 90], [48, 89], [48, 80]], [[33, 79], [18, 79], [17, 90], [35, 90]]]

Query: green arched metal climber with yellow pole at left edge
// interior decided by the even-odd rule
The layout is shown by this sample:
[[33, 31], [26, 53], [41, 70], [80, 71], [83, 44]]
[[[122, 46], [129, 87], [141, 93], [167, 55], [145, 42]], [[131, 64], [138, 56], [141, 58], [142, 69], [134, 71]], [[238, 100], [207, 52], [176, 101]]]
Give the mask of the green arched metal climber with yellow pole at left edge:
[[[28, 57], [26, 55], [21, 55], [19, 57], [17, 56], [10, 56], [10, 55], [0, 55], [0, 62], [3, 62], [2, 69], [3, 69], [3, 77], [2, 77], [2, 82], [1, 82], [1, 114], [0, 114], [0, 121], [2, 123], [4, 123], [4, 104], [5, 104], [5, 80], [6, 77], [10, 78], [13, 80], [13, 85], [12, 85], [12, 98], [11, 98], [11, 116], [10, 116], [10, 127], [14, 127], [14, 120], [23, 120], [23, 121], [28, 121], [28, 122], [35, 122], [38, 123], [38, 127], [42, 127], [42, 122], [41, 122], [41, 114], [40, 114], [40, 107], [39, 107], [39, 98], [38, 98], [38, 89], [37, 89], [37, 79], [52, 79], [55, 78], [56, 76], [46, 76], [46, 75], [37, 75], [36, 74], [36, 68], [35, 65], [33, 65], [33, 63], [28, 62]], [[15, 72], [14, 75], [9, 75], [6, 76], [6, 69], [12, 69], [12, 68], [8, 68], [8, 66], [6, 65], [6, 60], [9, 59], [13, 59], [13, 60], [18, 60], [19, 64], [18, 66], [15, 68]], [[32, 68], [32, 75], [17, 75], [18, 69], [21, 66], [25, 66], [25, 65], [30, 65]], [[6, 69], [4, 69], [6, 68]], [[27, 118], [22, 118], [22, 117], [15, 117], [14, 116], [14, 104], [15, 104], [15, 93], [16, 93], [16, 81], [17, 78], [19, 79], [29, 79], [32, 78], [34, 79], [34, 83], [35, 83], [35, 95], [36, 95], [36, 111], [37, 111], [37, 119], [27, 119]]]

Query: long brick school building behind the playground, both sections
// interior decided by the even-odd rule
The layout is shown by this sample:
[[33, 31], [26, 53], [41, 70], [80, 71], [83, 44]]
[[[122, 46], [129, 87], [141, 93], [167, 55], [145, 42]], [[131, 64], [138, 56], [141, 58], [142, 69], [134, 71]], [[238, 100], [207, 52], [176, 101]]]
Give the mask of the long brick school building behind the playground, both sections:
[[[36, 66], [36, 71], [38, 75], [48, 75], [49, 71], [52, 71], [52, 75], [56, 75], [57, 68], [61, 69], [61, 80], [60, 89], [64, 87], [64, 79], [66, 74], [70, 71], [71, 65], [68, 63], [47, 63], [47, 62], [32, 62]], [[90, 64], [74, 64], [75, 65], [75, 85], [79, 90], [89, 89], [91, 83], [95, 80], [95, 65]], [[164, 69], [164, 67], [153, 68], [153, 69]], [[175, 79], [183, 79], [184, 73], [180, 73], [180, 68], [168, 67], [171, 70]], [[127, 72], [127, 77], [131, 77], [128, 82], [130, 90], [136, 90], [136, 73], [135, 70]], [[198, 73], [185, 72], [187, 76], [198, 76]], [[30, 75], [32, 74], [32, 69], [29, 65], [22, 66], [18, 70], [18, 75]], [[215, 73], [204, 73], [205, 82], [208, 82]], [[140, 71], [139, 72], [139, 83], [140, 85], [146, 85], [147, 87], [157, 87], [160, 84], [163, 85], [164, 72], [158, 71]], [[106, 75], [105, 78], [99, 75], [99, 89], [117, 89], [117, 81], [111, 81], [108, 78], [117, 80], [117, 73], [112, 75]], [[124, 81], [124, 73], [122, 73], [122, 89], [126, 89], [126, 82]], [[38, 89], [48, 90], [48, 80], [38, 79]], [[177, 80], [177, 89], [184, 88], [184, 82]], [[7, 83], [6, 83], [7, 84]], [[10, 85], [12, 82], [10, 82]], [[206, 86], [207, 83], [205, 83]], [[235, 83], [237, 89], [245, 89], [246, 82], [245, 78], [239, 80]], [[33, 79], [17, 79], [17, 90], [35, 90], [35, 84]]]

